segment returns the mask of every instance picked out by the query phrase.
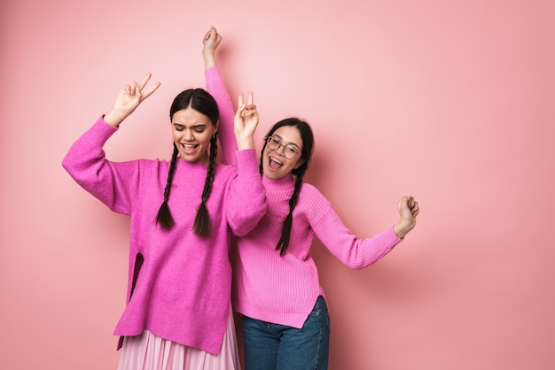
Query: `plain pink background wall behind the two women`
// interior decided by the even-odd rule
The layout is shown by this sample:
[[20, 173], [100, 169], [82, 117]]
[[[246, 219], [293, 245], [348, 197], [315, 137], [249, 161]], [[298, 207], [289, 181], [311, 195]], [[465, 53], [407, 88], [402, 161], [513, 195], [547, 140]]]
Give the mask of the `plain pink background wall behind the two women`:
[[554, 11], [551, 0], [3, 1], [0, 367], [115, 368], [129, 221], [60, 162], [147, 71], [161, 88], [106, 151], [168, 158], [169, 104], [203, 86], [200, 40], [215, 25], [231, 93], [254, 90], [257, 135], [308, 119], [308, 181], [357, 235], [395, 222], [404, 194], [420, 202], [417, 228], [368, 269], [315, 245], [330, 368], [554, 368]]

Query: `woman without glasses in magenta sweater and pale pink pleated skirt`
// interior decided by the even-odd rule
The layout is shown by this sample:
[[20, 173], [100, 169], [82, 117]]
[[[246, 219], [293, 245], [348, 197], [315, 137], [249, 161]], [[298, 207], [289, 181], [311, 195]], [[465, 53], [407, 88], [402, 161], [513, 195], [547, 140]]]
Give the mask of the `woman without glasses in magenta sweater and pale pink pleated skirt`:
[[[124, 86], [63, 160], [82, 188], [130, 216], [128, 299], [114, 330], [118, 368], [238, 369], [229, 242], [266, 212], [253, 139], [258, 114], [239, 97], [237, 113], [220, 118], [207, 91], [187, 89], [169, 112], [171, 161], [106, 159], [108, 138], [159, 88], [146, 89], [150, 77]], [[226, 154], [233, 152], [234, 166], [215, 161], [220, 120], [234, 120], [238, 150]]]

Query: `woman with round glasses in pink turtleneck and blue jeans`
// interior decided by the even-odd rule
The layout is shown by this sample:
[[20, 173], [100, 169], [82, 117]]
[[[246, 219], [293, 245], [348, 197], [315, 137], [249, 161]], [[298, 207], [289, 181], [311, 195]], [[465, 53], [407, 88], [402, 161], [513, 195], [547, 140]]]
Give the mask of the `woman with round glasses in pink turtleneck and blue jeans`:
[[[220, 103], [229, 96], [213, 95], [222, 112], [230, 110]], [[231, 135], [220, 143], [234, 145]], [[387, 255], [416, 225], [418, 202], [402, 197], [395, 225], [371, 238], [353, 235], [330, 202], [303, 182], [313, 149], [309, 124], [297, 118], [277, 122], [262, 146], [268, 211], [254, 230], [238, 235], [233, 267], [246, 370], [327, 368], [330, 321], [309, 254], [315, 235], [342, 263], [359, 269]]]

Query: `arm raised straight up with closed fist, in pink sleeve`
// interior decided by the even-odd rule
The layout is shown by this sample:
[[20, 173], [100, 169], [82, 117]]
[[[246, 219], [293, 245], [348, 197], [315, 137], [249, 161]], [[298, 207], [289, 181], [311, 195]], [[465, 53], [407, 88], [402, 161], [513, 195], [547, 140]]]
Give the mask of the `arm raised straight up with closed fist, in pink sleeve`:
[[236, 165], [235, 151], [237, 150], [237, 143], [233, 134], [233, 104], [215, 61], [215, 50], [221, 41], [222, 36], [218, 34], [215, 27], [210, 27], [202, 39], [204, 44], [202, 58], [204, 58], [207, 91], [214, 96], [220, 111], [218, 137], [223, 160], [228, 165]]

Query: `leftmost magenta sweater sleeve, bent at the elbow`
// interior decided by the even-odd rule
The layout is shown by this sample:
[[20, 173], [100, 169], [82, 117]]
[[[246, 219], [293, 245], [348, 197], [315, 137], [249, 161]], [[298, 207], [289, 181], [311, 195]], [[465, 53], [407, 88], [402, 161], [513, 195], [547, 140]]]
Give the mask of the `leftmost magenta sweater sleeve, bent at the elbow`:
[[113, 212], [130, 214], [133, 194], [138, 192], [138, 163], [106, 159], [103, 146], [116, 131], [117, 128], [99, 118], [67, 151], [62, 166], [74, 181]]

